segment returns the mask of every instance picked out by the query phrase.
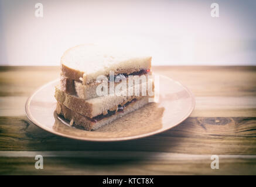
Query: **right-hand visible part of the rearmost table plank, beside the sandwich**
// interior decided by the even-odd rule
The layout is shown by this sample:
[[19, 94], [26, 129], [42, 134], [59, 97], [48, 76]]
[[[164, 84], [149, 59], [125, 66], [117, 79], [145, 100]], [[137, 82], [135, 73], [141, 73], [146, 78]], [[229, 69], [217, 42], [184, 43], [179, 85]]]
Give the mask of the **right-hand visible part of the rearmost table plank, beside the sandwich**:
[[255, 96], [255, 68], [156, 67], [156, 73], [180, 81], [195, 96]]

